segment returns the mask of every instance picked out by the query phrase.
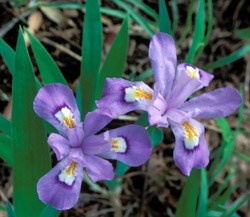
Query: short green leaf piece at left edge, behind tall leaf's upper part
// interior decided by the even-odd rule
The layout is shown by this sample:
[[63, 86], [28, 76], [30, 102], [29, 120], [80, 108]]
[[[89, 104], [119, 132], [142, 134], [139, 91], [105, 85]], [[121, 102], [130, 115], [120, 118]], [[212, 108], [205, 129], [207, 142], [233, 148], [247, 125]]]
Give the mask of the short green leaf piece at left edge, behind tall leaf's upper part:
[[0, 55], [3, 57], [10, 73], [14, 74], [15, 65], [15, 51], [2, 39], [0, 38]]

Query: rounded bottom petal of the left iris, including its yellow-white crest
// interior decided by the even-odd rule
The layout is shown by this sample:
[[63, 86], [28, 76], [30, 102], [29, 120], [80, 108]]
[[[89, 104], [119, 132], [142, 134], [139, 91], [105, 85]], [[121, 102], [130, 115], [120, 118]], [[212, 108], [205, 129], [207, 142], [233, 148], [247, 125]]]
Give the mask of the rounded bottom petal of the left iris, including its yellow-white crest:
[[79, 198], [82, 179], [82, 168], [64, 159], [38, 181], [39, 199], [58, 210], [70, 209]]

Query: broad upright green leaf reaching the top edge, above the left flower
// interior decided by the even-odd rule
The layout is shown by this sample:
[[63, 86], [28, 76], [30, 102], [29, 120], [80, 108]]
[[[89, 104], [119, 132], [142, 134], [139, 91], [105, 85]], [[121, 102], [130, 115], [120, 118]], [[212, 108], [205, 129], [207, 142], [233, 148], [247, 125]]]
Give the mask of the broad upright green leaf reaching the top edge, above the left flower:
[[102, 23], [98, 0], [87, 0], [82, 41], [80, 86], [83, 117], [95, 108], [102, 57]]

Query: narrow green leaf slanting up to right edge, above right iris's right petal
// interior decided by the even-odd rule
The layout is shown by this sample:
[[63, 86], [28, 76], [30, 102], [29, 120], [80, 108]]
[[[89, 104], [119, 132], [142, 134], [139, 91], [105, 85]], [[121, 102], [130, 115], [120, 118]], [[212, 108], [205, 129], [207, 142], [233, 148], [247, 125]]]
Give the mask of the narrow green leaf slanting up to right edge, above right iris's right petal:
[[216, 68], [220, 68], [224, 65], [232, 63], [242, 57], [244, 57], [247, 53], [250, 52], [250, 45], [245, 45], [238, 49], [237, 51], [233, 52], [229, 56], [223, 57], [213, 63], [209, 63], [204, 67], [204, 70], [213, 70]]

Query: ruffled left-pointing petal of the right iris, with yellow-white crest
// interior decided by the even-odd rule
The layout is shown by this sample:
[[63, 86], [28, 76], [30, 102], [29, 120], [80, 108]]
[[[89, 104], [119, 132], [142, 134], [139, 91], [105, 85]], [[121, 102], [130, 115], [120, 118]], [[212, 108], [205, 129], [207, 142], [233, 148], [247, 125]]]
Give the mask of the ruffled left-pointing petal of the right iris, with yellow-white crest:
[[102, 98], [96, 104], [99, 109], [110, 109], [116, 117], [132, 110], [147, 110], [152, 98], [153, 90], [143, 82], [108, 78]]

